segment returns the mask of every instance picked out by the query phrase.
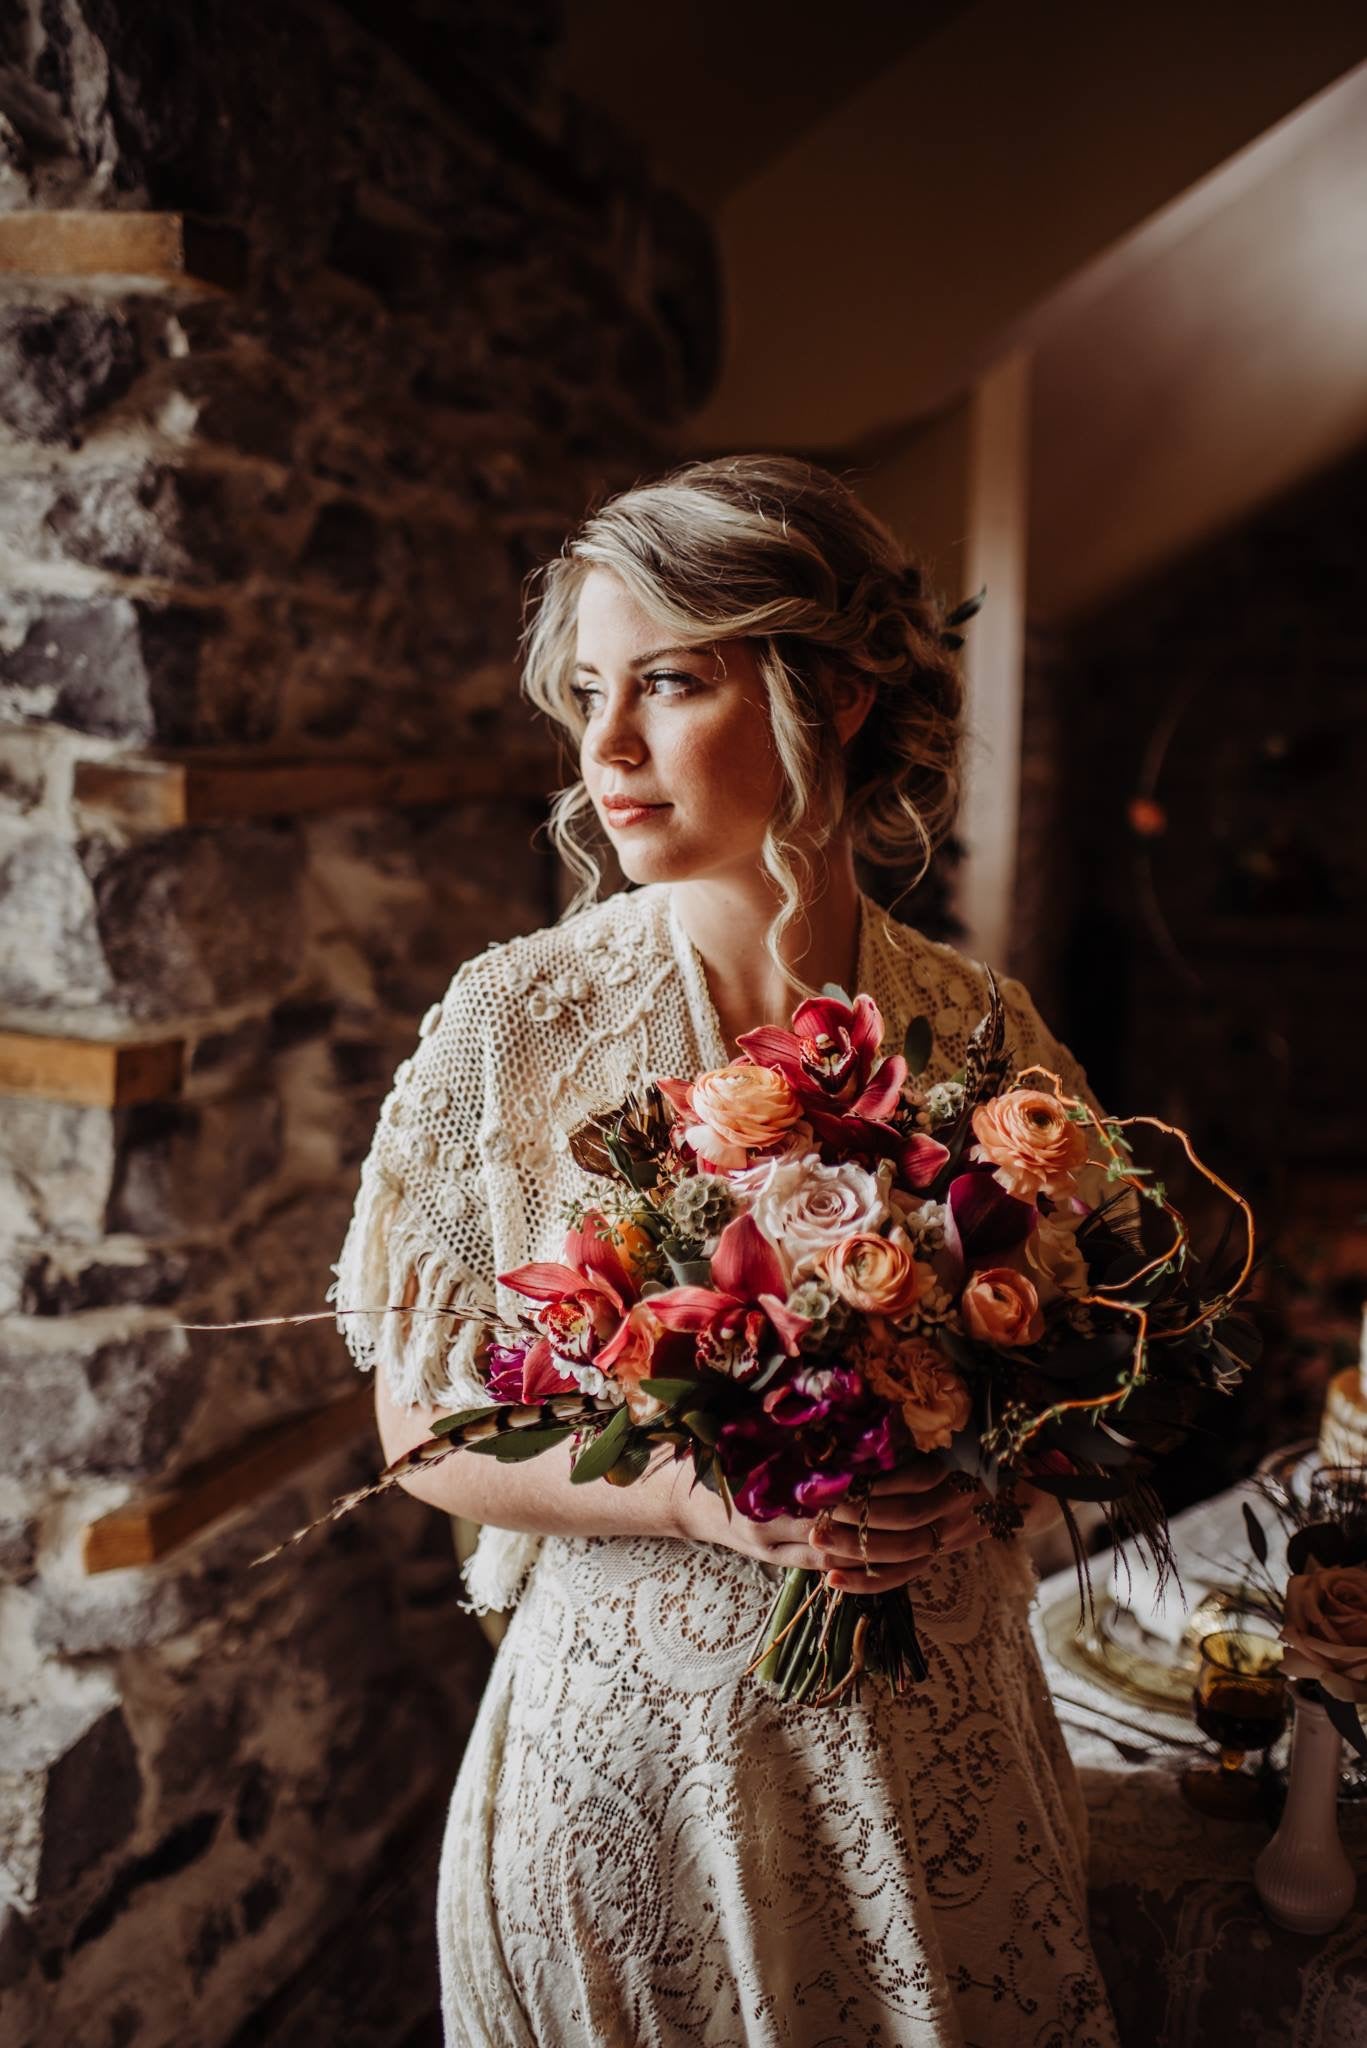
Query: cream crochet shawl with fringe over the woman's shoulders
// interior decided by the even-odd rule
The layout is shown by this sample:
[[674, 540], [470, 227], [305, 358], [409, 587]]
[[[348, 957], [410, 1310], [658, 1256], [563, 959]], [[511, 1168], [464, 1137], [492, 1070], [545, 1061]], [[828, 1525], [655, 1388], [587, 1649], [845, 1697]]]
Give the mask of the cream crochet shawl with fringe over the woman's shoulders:
[[[861, 897], [859, 987], [900, 1049], [930, 1018], [930, 1079], [963, 1063], [984, 1012], [984, 969]], [[1000, 981], [1017, 1065], [1041, 1061], [1072, 1094], [1086, 1077], [1045, 1030], [1019, 981]], [[568, 1133], [656, 1073], [726, 1065], [703, 963], [666, 883], [609, 897], [564, 924], [467, 961], [420, 1026], [381, 1106], [361, 1188], [332, 1268], [338, 1309], [467, 1305], [514, 1319], [521, 1296], [494, 1276], [560, 1255], [564, 1204], [586, 1190]], [[441, 1315], [353, 1315], [355, 1362], [379, 1366], [400, 1403], [488, 1399], [473, 1366], [478, 1325]], [[510, 1608], [541, 1538], [484, 1528], [465, 1565], [471, 1608]]]

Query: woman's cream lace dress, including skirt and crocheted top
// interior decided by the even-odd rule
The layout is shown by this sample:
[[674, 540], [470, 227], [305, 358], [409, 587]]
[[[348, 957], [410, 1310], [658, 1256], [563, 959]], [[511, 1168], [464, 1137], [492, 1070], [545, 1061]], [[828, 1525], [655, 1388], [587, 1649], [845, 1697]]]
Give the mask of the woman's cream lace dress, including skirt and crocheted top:
[[[924, 1012], [930, 1077], [961, 1063], [982, 969], [867, 897], [859, 985], [889, 1047]], [[1025, 989], [1002, 993], [1019, 1063], [1084, 1090]], [[582, 1192], [564, 1126], [631, 1071], [726, 1057], [666, 887], [467, 963], [381, 1112], [338, 1307], [488, 1305], [490, 1274], [560, 1251]], [[439, 1315], [342, 1327], [402, 1397], [478, 1395]], [[928, 1679], [848, 1710], [742, 1677], [775, 1577], [711, 1544], [484, 1532], [473, 1604], [516, 1612], [445, 1835], [449, 2048], [1113, 2048], [1025, 1554], [935, 1567]]]

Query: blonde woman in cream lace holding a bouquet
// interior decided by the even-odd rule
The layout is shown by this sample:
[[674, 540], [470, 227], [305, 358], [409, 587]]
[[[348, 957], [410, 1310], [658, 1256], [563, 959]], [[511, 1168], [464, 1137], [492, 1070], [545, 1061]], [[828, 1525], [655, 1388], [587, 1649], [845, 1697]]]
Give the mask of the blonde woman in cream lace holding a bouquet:
[[[723, 1065], [822, 983], [869, 989], [894, 1047], [928, 1014], [930, 1077], [984, 1010], [982, 967], [857, 887], [857, 852], [924, 866], [947, 831], [961, 684], [920, 571], [836, 477], [740, 457], [609, 502], [541, 573], [525, 688], [578, 743], [553, 831], [582, 907], [461, 967], [424, 1020], [338, 1307], [494, 1307], [494, 1274], [560, 1253], [584, 1108]], [[603, 903], [584, 827], [631, 883]], [[1019, 1061], [1082, 1092], [1025, 989], [1004, 995]], [[389, 1458], [482, 1399], [473, 1325], [342, 1327], [379, 1368]], [[484, 1524], [471, 1602], [514, 1608], [443, 1851], [449, 2048], [1113, 2044], [1021, 1544], [908, 1479], [865, 1571], [855, 1509], [728, 1522], [687, 1481], [572, 1487], [560, 1450], [410, 1485]], [[822, 1712], [744, 1679], [789, 1565], [914, 1587], [926, 1683]]]

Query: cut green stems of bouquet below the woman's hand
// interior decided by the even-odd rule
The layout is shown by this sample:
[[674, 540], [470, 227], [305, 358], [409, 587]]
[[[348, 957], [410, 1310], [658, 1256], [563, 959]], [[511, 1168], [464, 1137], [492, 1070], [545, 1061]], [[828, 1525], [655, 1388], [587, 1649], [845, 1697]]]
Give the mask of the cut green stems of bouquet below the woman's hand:
[[820, 1571], [789, 1571], [750, 1671], [791, 1704], [859, 1700], [869, 1675], [887, 1679], [894, 1696], [902, 1696], [926, 1675], [912, 1595], [906, 1587], [842, 1593]]

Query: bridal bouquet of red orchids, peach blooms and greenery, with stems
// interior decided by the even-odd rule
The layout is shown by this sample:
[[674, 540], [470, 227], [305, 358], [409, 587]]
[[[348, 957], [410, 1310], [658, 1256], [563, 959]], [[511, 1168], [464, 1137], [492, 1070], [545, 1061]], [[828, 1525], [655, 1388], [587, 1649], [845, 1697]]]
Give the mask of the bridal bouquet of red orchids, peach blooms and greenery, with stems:
[[[498, 1276], [527, 1307], [484, 1341], [496, 1405], [443, 1417], [383, 1479], [572, 1440], [578, 1483], [687, 1458], [764, 1522], [846, 1499], [867, 1516], [871, 1481], [933, 1458], [992, 1536], [1021, 1528], [1029, 1483], [1064, 1503], [1080, 1571], [1076, 1501], [1162, 1563], [1152, 1462], [1254, 1356], [1232, 1309], [1248, 1206], [1183, 1133], [1103, 1122], [1045, 1069], [1012, 1073], [996, 983], [953, 1079], [922, 1083], [924, 1018], [900, 1053], [881, 1038], [869, 995], [828, 987], [730, 1065], [584, 1122], [570, 1147], [596, 1198], [560, 1260]], [[1142, 1122], [1242, 1212], [1226, 1272], [1135, 1163]], [[793, 1571], [752, 1669], [812, 1704], [857, 1698], [863, 1673], [906, 1690], [924, 1677], [912, 1599]]]

